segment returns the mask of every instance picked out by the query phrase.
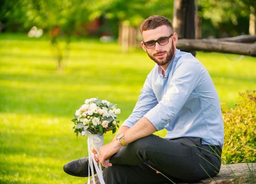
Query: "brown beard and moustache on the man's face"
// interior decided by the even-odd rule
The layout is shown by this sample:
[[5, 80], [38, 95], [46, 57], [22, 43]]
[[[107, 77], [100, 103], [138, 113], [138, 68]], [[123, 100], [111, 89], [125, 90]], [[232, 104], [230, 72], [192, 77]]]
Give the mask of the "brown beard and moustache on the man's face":
[[[153, 55], [150, 55], [148, 52], [146, 52], [146, 53], [158, 66], [164, 66], [171, 62], [171, 60], [174, 56], [174, 53], [175, 53], [175, 48], [174, 48], [174, 44], [172, 42], [172, 47], [168, 51], [157, 52]], [[164, 53], [166, 53], [166, 56], [164, 58], [159, 59], [159, 58], [155, 57], [156, 55], [164, 54]]]

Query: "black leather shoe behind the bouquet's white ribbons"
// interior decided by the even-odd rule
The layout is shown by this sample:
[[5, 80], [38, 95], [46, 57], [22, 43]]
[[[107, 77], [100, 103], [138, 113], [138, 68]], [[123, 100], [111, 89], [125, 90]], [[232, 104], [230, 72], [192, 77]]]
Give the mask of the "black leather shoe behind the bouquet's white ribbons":
[[[77, 160], [70, 161], [63, 166], [63, 170], [72, 176], [77, 177], [88, 177], [88, 157], [80, 158]], [[93, 166], [93, 171], [96, 173], [95, 167]], [[90, 170], [90, 176], [92, 176]]]

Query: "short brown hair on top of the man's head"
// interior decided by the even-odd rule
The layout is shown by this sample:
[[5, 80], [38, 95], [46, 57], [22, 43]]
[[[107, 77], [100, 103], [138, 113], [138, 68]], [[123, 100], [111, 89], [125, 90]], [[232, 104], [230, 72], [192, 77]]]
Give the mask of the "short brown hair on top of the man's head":
[[144, 30], [155, 29], [162, 25], [171, 27], [171, 29], [173, 30], [172, 24], [167, 18], [159, 16], [159, 15], [153, 15], [153, 16], [150, 16], [149, 18], [145, 19], [141, 23], [140, 32], [142, 34], [142, 32], [144, 32]]

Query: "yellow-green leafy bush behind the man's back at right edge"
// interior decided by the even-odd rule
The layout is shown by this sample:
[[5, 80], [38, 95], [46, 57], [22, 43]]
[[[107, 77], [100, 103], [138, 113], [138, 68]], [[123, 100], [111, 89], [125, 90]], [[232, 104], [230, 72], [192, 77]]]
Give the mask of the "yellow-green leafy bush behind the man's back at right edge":
[[256, 91], [240, 93], [241, 101], [235, 108], [222, 104], [224, 121], [224, 163], [256, 161]]

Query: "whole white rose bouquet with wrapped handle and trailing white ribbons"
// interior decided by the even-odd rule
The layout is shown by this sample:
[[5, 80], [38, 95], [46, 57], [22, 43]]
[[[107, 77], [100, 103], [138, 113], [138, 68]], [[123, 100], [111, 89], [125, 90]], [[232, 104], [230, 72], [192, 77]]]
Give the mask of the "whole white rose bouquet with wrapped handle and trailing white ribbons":
[[[92, 149], [97, 152], [103, 145], [103, 134], [106, 131], [112, 130], [113, 134], [116, 127], [119, 127], [119, 119], [117, 115], [121, 113], [120, 109], [116, 108], [116, 104], [111, 104], [107, 100], [90, 98], [84, 101], [84, 104], [75, 112], [75, 118], [72, 121], [75, 123], [73, 127], [76, 136], [88, 135], [88, 168], [94, 173], [93, 165], [95, 166], [97, 176], [101, 184], [105, 184], [102, 176], [102, 168], [99, 162], [97, 165], [92, 155]], [[88, 169], [88, 183], [90, 184], [90, 169]], [[93, 183], [95, 183], [94, 175], [92, 175]]]

